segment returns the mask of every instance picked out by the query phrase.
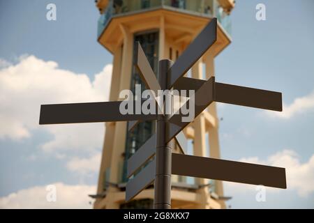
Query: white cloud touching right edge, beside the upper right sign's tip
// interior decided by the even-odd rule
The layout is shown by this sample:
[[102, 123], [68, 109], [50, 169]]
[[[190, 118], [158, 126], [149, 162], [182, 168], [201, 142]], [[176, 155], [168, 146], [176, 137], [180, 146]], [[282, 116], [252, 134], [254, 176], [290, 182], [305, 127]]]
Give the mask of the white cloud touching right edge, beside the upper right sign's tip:
[[297, 114], [302, 114], [314, 108], [314, 91], [301, 98], [296, 98], [292, 104], [283, 104], [283, 112], [266, 111], [269, 116], [278, 118], [292, 118]]

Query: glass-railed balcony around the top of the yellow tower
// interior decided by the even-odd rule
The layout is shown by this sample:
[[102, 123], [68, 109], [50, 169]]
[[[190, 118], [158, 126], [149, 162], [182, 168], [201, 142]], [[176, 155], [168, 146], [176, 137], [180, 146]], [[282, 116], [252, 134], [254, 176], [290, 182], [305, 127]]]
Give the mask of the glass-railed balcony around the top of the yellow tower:
[[[127, 24], [131, 21], [133, 22], [131, 26], [136, 23], [144, 24], [147, 20], [154, 20], [156, 12], [163, 11], [166, 12], [170, 24], [172, 18], [181, 21], [190, 20], [190, 23], [195, 22], [193, 29], [202, 26], [200, 20], [203, 20], [201, 23], [206, 24], [204, 21], [208, 22], [211, 18], [217, 17], [220, 31], [229, 40], [227, 42], [230, 42], [231, 20], [229, 13], [230, 8], [234, 6], [231, 4], [233, 2], [233, 0], [98, 0], [96, 4], [101, 14], [98, 20], [98, 41], [112, 52], [112, 49], [105, 44], [105, 41], [112, 41], [107, 39], [107, 33], [114, 33], [111, 29], [119, 29], [117, 27], [119, 23]], [[172, 15], [170, 15], [171, 13]], [[133, 20], [136, 16], [139, 19]], [[184, 23], [181, 22], [181, 24]], [[140, 26], [140, 24], [138, 25]], [[172, 26], [175, 25], [175, 23], [172, 24]]]

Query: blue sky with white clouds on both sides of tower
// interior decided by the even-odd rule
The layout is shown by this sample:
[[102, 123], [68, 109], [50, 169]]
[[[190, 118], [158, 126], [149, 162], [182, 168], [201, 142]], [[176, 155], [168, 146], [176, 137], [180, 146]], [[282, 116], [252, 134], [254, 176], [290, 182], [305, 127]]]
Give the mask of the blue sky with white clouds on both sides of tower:
[[[46, 20], [48, 3], [57, 21]], [[266, 21], [255, 20], [257, 3]], [[313, 8], [238, 0], [232, 12], [217, 81], [281, 91], [284, 112], [218, 105], [222, 157], [285, 167], [288, 188], [267, 188], [258, 202], [256, 187], [225, 183], [230, 208], [314, 208]], [[39, 126], [38, 117], [40, 104], [108, 99], [112, 56], [96, 41], [97, 20], [94, 1], [0, 1], [0, 208], [91, 208], [103, 123]]]

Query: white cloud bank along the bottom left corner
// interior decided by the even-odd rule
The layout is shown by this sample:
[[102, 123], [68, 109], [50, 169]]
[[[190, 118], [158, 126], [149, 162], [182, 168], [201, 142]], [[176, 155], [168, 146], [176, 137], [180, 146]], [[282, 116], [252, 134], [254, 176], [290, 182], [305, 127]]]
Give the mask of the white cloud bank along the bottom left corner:
[[0, 197], [0, 208], [92, 208], [93, 201], [89, 194], [96, 192], [96, 187], [89, 185], [64, 185], [54, 183], [56, 187], [56, 201], [49, 202], [47, 195], [50, 190], [46, 186], [30, 187]]

